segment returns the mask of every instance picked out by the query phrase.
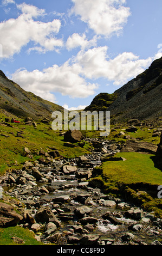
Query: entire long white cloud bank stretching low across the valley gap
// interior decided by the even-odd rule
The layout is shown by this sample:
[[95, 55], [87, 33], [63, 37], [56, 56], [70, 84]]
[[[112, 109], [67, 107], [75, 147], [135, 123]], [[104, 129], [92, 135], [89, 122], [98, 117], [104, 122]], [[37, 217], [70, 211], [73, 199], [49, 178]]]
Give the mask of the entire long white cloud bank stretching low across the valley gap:
[[17, 70], [12, 74], [12, 80], [23, 89], [53, 102], [56, 102], [55, 92], [73, 99], [85, 98], [94, 95], [99, 88], [94, 83], [96, 79], [106, 78], [107, 81], [122, 86], [144, 71], [152, 60], [139, 59], [131, 52], [121, 53], [111, 59], [106, 46], [94, 47], [87, 51], [81, 50], [60, 66], [53, 65], [43, 71]]

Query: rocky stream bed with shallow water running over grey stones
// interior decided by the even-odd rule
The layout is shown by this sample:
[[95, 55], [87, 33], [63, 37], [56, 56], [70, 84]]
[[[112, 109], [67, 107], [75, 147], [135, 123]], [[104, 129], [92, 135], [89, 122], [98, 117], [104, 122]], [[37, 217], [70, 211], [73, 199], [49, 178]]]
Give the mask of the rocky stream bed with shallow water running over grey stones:
[[48, 165], [26, 163], [1, 180], [5, 194], [20, 200], [15, 205], [23, 216], [19, 225], [38, 241], [56, 245], [162, 245], [162, 220], [153, 212], [88, 182], [103, 154], [119, 152], [107, 141], [100, 143], [102, 150], [92, 154]]

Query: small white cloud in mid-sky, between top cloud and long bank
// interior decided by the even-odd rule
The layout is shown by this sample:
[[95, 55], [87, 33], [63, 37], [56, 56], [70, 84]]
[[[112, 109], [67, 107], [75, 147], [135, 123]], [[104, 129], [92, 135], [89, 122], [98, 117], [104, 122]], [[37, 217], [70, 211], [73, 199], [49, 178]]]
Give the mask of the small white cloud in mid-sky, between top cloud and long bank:
[[95, 35], [93, 39], [87, 40], [85, 34], [74, 33], [70, 35], [66, 42], [66, 47], [70, 51], [73, 48], [81, 47], [82, 49], [96, 46], [97, 36]]

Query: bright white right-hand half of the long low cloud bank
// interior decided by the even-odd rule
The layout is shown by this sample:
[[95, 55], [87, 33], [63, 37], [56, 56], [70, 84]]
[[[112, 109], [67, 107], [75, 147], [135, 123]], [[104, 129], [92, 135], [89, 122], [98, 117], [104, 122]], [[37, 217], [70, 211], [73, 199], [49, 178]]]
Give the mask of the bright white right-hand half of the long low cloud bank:
[[114, 59], [109, 58], [107, 46], [80, 51], [75, 62], [81, 67], [81, 74], [90, 79], [107, 78], [116, 85], [124, 85], [129, 79], [139, 75], [153, 58], [139, 59], [132, 52], [124, 52]]

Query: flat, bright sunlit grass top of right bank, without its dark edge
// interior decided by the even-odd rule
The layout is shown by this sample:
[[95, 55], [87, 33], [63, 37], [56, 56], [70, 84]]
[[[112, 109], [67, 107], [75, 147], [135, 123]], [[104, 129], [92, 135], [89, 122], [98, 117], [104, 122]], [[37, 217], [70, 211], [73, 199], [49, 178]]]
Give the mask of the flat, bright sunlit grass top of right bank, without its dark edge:
[[152, 185], [162, 184], [162, 172], [154, 167], [152, 157], [154, 155], [135, 152], [118, 153], [114, 157], [124, 157], [126, 161], [107, 161], [102, 163], [103, 177], [132, 184], [144, 182]]

